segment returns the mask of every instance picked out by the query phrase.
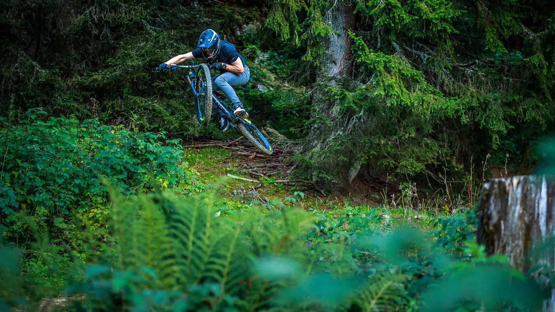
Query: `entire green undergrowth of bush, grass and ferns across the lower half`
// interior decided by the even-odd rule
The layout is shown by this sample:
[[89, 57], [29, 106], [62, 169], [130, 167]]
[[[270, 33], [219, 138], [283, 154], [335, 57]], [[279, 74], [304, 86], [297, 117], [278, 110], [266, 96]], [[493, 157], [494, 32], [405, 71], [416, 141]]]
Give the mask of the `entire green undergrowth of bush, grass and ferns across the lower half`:
[[470, 205], [415, 206], [405, 187], [377, 207], [314, 205], [284, 185], [269, 199], [219, 180], [243, 170], [225, 151], [41, 114], [0, 129], [2, 310], [518, 311], [543, 298], [476, 244]]

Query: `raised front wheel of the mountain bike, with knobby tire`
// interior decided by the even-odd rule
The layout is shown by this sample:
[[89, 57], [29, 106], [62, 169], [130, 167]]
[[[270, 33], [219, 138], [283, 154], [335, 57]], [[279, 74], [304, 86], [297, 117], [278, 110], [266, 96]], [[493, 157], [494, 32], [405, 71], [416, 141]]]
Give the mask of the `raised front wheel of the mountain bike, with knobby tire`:
[[210, 69], [206, 64], [200, 64], [196, 70], [195, 98], [196, 121], [200, 125], [207, 125], [212, 115], [212, 79]]

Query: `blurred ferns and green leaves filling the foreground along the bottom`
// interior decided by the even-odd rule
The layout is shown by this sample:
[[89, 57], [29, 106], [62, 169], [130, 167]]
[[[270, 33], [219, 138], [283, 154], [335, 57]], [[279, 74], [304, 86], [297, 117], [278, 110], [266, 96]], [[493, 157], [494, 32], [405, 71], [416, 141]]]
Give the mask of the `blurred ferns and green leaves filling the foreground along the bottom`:
[[279, 201], [224, 214], [207, 192], [111, 198], [107, 227], [80, 218], [84, 258], [70, 252], [68, 262], [36, 235], [33, 248], [60, 285], [29, 283], [21, 251], [4, 244], [3, 309], [34, 311], [54, 286], [66, 311], [524, 311], [549, 294], [504, 257], [486, 256], [464, 214], [437, 227], [436, 242], [392, 228], [385, 208], [330, 219]]

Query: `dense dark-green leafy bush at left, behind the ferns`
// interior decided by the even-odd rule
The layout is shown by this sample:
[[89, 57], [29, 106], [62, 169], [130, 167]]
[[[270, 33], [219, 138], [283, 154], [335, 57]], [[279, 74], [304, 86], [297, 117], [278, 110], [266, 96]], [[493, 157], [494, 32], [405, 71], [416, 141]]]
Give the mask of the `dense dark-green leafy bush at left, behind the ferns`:
[[102, 177], [125, 195], [197, 188], [178, 140], [163, 144], [164, 133], [130, 132], [92, 119], [43, 121], [41, 114], [29, 110], [17, 125], [0, 119], [0, 232], [18, 245], [31, 238], [20, 214], [31, 215], [40, 232], [51, 232], [54, 244], [75, 243], [72, 211], [105, 227], [110, 203]]

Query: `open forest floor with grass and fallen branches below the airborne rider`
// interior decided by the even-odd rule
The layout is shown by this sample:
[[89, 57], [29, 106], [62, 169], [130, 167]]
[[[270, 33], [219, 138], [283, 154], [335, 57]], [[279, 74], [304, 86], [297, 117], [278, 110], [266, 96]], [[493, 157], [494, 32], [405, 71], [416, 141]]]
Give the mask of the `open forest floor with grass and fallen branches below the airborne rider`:
[[[228, 216], [230, 211], [264, 209], [260, 204], [249, 204], [249, 200], [265, 204], [272, 200], [287, 202], [286, 199], [291, 197], [298, 199], [294, 203], [296, 207], [323, 213], [328, 218], [337, 219], [378, 209], [392, 219], [393, 227], [410, 223], [420, 229], [430, 230], [431, 220], [435, 220], [438, 215], [448, 214], [442, 209], [412, 209], [386, 202], [383, 195], [385, 183], [384, 190], [377, 192], [377, 187], [382, 185], [378, 179], [372, 185], [355, 180], [351, 188], [354, 192], [351, 193], [321, 190], [308, 181], [291, 182], [298, 180], [296, 177], [291, 178], [292, 165], [287, 162], [287, 153], [277, 152], [268, 157], [254, 152], [254, 148], [245, 143], [226, 145], [230, 142], [233, 141], [194, 142], [184, 146], [189, 169], [196, 172], [201, 184], [218, 189], [216, 200], [223, 207], [227, 206], [223, 211]], [[296, 196], [297, 192], [302, 192], [304, 198]]]

